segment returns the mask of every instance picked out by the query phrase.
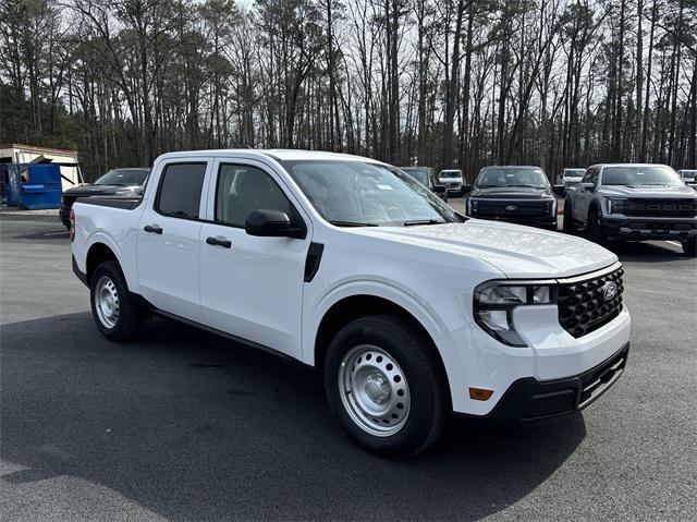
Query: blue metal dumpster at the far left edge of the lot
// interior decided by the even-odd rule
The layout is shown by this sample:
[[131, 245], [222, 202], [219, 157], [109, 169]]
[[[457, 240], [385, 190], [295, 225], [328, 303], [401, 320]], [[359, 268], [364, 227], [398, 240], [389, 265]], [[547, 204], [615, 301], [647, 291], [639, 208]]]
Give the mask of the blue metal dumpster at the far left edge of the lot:
[[28, 210], [60, 208], [61, 167], [52, 163], [5, 163], [9, 183], [5, 197], [9, 206]]

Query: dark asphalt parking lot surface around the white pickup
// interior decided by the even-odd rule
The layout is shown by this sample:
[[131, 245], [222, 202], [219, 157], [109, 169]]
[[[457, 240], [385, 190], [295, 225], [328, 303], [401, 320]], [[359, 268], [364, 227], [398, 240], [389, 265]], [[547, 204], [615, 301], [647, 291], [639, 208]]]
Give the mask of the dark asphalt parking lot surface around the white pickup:
[[163, 319], [106, 341], [62, 226], [0, 217], [2, 520], [697, 520], [697, 260], [613, 248], [632, 351], [603, 398], [393, 462], [272, 355]]

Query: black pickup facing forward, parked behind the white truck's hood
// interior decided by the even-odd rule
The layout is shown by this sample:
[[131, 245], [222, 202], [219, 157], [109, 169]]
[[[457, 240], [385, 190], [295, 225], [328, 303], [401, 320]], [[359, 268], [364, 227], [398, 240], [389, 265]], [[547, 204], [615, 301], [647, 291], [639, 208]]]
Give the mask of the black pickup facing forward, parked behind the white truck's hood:
[[557, 230], [557, 197], [539, 167], [485, 167], [466, 211], [474, 218]]

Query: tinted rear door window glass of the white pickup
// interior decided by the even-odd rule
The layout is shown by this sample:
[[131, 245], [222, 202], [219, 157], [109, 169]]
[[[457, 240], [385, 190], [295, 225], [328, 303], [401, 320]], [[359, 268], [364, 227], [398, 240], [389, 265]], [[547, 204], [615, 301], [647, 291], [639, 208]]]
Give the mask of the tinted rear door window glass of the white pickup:
[[198, 219], [206, 163], [168, 165], [160, 179], [156, 210], [166, 216]]

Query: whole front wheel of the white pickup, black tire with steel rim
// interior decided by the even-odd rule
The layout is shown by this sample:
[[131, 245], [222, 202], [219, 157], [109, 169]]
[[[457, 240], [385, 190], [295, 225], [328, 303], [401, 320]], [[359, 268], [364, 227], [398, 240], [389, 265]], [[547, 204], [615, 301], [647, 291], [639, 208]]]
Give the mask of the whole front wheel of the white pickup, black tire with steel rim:
[[325, 386], [343, 428], [376, 453], [414, 456], [443, 429], [445, 377], [430, 340], [405, 320], [370, 316], [346, 325], [329, 347]]

